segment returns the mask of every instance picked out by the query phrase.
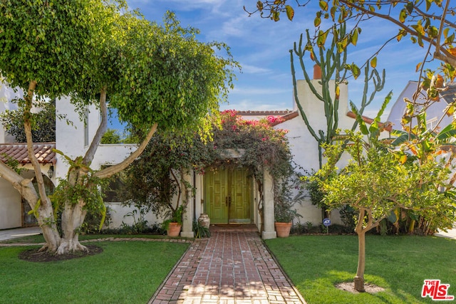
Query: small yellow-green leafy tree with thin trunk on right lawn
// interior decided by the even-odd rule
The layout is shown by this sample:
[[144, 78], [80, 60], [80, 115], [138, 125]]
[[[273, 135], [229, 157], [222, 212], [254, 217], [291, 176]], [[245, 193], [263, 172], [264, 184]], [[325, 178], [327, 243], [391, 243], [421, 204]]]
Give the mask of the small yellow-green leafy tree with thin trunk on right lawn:
[[[324, 201], [331, 209], [348, 204], [359, 212], [355, 229], [358, 234], [358, 270], [354, 278], [358, 291], [364, 291], [366, 232], [383, 219], [394, 222], [393, 211], [398, 208], [413, 210], [426, 219], [432, 218], [437, 221], [438, 228], [449, 228], [456, 207], [452, 186], [447, 184], [450, 171], [445, 164], [435, 160], [424, 164], [403, 162], [400, 155], [388, 150], [378, 140], [380, 115], [369, 129], [361, 125], [361, 130], [369, 135], [368, 142], [360, 133], [348, 131], [346, 140], [349, 145], [342, 142], [326, 145], [328, 162], [315, 177], [321, 181]], [[358, 120], [361, 122], [361, 117], [358, 116]], [[350, 154], [352, 159], [337, 172], [336, 162], [342, 152]], [[447, 191], [440, 191], [441, 187]]]

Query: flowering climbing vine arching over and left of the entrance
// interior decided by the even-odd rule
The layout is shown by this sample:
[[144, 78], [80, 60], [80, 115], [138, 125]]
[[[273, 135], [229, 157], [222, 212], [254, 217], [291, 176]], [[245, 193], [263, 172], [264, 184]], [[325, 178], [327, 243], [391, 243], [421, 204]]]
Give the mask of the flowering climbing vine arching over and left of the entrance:
[[[264, 170], [268, 170], [274, 179], [274, 202], [293, 202], [290, 187], [294, 186], [289, 183], [294, 168], [286, 130], [273, 127], [280, 119], [271, 116], [260, 121], [243, 120], [234, 110], [222, 112], [220, 118], [221, 127], [218, 117], [212, 118], [211, 142], [204, 142], [199, 135], [189, 139], [178, 133], [157, 132], [126, 172], [121, 190], [126, 204], [145, 206], [159, 216], [175, 217], [182, 205], [173, 204], [173, 197], [180, 201], [182, 194], [195, 190], [183, 182], [183, 174], [190, 169], [204, 174], [206, 169], [219, 166], [245, 167], [261, 183]], [[227, 150], [240, 152], [240, 157], [232, 158]], [[183, 201], [187, 204], [186, 198]]]

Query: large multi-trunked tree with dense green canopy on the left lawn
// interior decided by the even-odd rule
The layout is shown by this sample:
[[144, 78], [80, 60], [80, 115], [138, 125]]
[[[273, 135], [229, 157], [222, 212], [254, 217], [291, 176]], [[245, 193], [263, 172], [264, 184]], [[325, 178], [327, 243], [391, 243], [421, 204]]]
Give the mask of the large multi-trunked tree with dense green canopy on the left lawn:
[[[128, 167], [147, 146], [157, 127], [202, 130], [208, 112], [217, 113], [219, 100], [232, 86], [237, 63], [218, 56], [223, 43], [200, 43], [197, 30], [180, 27], [170, 14], [163, 26], [150, 23], [119, 3], [97, 0], [0, 2], [0, 70], [6, 83], [24, 90], [24, 129], [38, 194], [5, 164], [0, 174], [31, 205], [43, 229], [43, 250], [65, 253], [86, 250], [78, 229], [88, 209], [103, 210], [99, 185]], [[142, 130], [138, 150], [123, 162], [98, 172], [90, 169], [107, 125], [106, 96], [120, 120]], [[66, 180], [53, 196], [43, 187], [41, 168], [33, 154], [31, 108], [36, 98], [72, 96], [81, 114], [95, 104], [101, 122], [83, 156], [69, 159]], [[57, 99], [58, 102], [58, 99]], [[62, 235], [56, 229], [61, 209]]]

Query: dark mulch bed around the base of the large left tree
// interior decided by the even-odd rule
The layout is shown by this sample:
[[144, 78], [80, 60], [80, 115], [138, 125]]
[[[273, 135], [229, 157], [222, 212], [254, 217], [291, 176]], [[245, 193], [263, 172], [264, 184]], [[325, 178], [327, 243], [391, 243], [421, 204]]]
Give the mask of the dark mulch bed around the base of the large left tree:
[[83, 258], [85, 256], [94, 256], [95, 254], [102, 253], [103, 248], [95, 245], [88, 245], [87, 251], [78, 251], [65, 254], [54, 254], [47, 251], [38, 252], [39, 248], [27, 249], [19, 253], [19, 258], [24, 261], [30, 262], [53, 262], [53, 261], [65, 261], [73, 258]]

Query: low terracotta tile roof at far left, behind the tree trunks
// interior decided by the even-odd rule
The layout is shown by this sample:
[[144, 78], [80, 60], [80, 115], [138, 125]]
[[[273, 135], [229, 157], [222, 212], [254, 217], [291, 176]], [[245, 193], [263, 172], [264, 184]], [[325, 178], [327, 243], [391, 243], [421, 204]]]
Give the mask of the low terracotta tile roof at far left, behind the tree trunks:
[[[56, 152], [53, 152], [53, 149], [55, 148], [55, 142], [45, 142], [33, 145], [35, 156], [38, 158], [38, 162], [41, 164], [56, 164]], [[1, 162], [6, 162], [4, 154], [8, 154], [10, 157], [13, 157], [21, 164], [30, 163], [30, 159], [28, 159], [26, 144], [0, 144]]]

